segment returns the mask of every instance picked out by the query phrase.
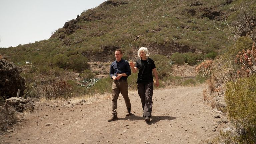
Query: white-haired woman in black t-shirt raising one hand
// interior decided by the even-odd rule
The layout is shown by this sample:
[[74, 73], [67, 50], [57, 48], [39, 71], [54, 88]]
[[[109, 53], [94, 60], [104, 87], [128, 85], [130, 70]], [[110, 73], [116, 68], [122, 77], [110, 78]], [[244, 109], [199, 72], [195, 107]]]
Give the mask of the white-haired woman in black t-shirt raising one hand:
[[156, 66], [154, 61], [148, 57], [148, 49], [146, 47], [141, 47], [138, 51], [139, 60], [136, 61], [135, 65], [133, 62], [130, 62], [130, 66], [132, 68], [132, 72], [136, 73], [139, 69], [137, 85], [138, 85], [138, 94], [141, 99], [141, 104], [143, 108], [143, 117], [145, 117], [145, 121], [149, 122], [152, 112], [152, 97], [153, 97], [153, 74], [156, 78], [155, 85], [159, 86], [158, 75], [156, 72]]

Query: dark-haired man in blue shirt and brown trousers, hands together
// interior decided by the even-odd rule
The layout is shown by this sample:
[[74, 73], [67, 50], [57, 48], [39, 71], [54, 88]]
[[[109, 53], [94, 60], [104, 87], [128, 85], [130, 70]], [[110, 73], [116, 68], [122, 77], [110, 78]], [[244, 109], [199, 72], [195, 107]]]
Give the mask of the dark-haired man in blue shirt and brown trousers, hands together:
[[113, 79], [112, 84], [112, 117], [108, 121], [117, 120], [117, 99], [121, 92], [125, 105], [127, 107], [126, 116], [131, 114], [131, 102], [128, 97], [127, 77], [131, 75], [131, 68], [127, 60], [122, 59], [123, 52], [118, 49], [115, 51], [116, 60], [110, 65], [110, 77]]

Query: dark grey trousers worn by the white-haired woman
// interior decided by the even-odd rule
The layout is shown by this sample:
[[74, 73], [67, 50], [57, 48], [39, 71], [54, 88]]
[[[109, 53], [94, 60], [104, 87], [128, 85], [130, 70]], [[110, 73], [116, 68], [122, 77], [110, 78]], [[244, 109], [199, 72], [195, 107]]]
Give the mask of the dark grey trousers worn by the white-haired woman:
[[152, 97], [153, 97], [153, 82], [152, 83], [138, 83], [138, 94], [141, 99], [144, 116], [151, 117], [152, 112]]

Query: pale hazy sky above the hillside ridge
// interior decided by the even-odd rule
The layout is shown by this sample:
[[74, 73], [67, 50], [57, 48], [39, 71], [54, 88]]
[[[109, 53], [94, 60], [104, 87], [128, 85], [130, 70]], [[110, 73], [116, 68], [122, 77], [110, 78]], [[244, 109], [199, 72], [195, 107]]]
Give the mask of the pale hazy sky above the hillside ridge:
[[49, 39], [52, 32], [106, 0], [0, 0], [0, 48]]

